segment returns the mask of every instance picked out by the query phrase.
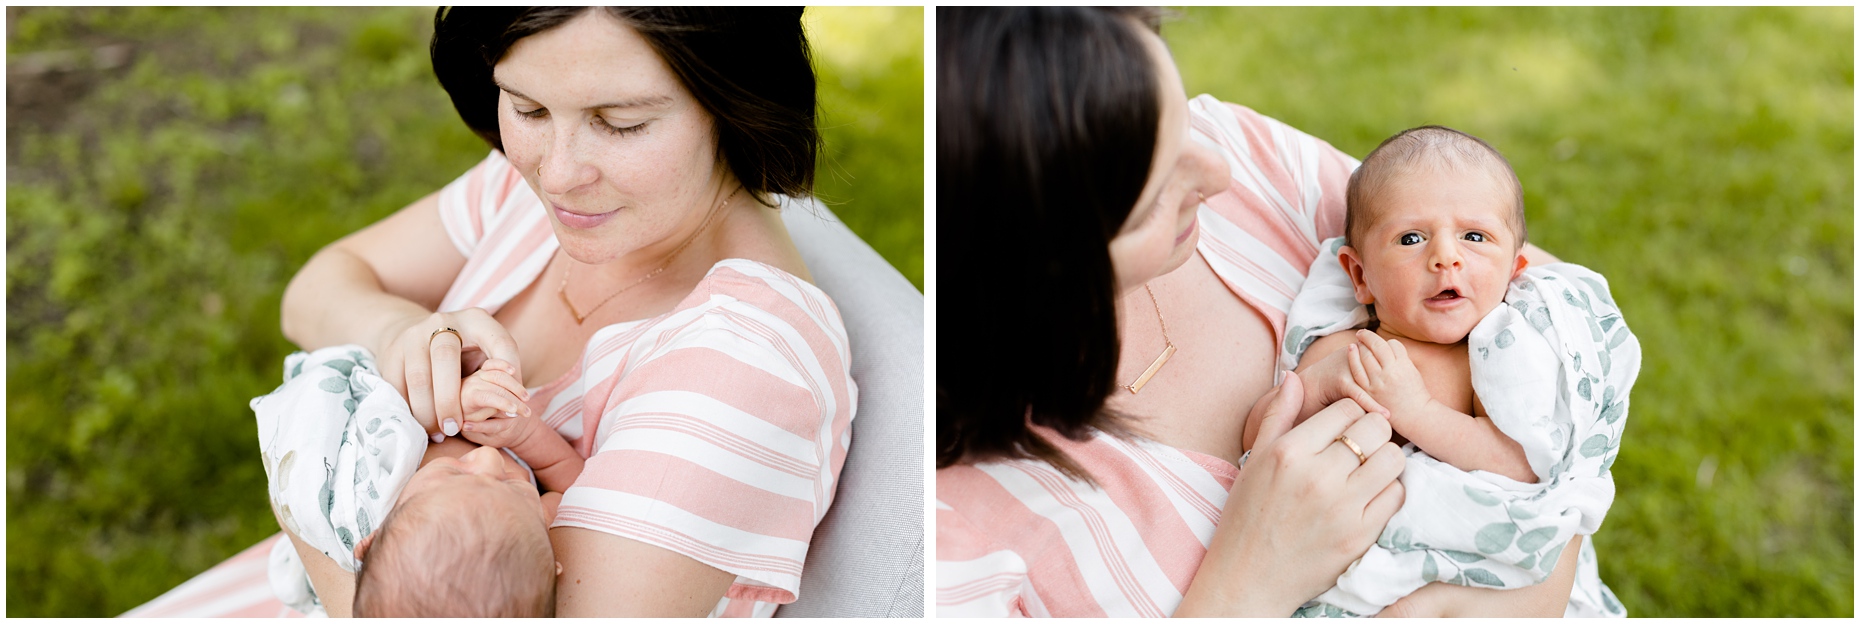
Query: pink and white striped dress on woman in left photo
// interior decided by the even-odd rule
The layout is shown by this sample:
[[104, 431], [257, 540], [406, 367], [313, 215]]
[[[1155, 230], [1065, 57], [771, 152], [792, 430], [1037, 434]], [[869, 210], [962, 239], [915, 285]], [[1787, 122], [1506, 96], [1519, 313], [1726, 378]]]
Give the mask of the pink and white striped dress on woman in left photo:
[[[439, 214], [467, 257], [439, 309], [497, 313], [556, 251], [541, 203], [497, 151], [441, 190]], [[735, 574], [714, 617], [774, 615], [796, 598], [846, 460], [850, 356], [826, 292], [748, 259], [716, 263], [660, 317], [601, 328], [569, 373], [530, 389], [534, 414], [588, 458], [554, 525]], [[262, 561], [218, 574], [251, 568], [249, 553], [128, 615], [279, 613]]]

